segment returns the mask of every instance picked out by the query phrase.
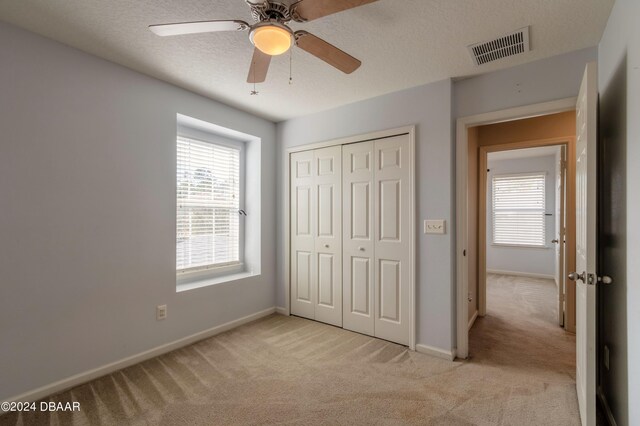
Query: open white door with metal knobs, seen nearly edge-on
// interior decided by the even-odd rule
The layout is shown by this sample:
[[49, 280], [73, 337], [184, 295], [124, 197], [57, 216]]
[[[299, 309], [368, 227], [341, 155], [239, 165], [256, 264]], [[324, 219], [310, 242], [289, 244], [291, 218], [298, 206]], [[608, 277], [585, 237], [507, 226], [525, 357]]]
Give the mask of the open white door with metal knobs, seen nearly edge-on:
[[576, 389], [584, 426], [596, 424], [597, 67], [587, 64], [576, 106]]

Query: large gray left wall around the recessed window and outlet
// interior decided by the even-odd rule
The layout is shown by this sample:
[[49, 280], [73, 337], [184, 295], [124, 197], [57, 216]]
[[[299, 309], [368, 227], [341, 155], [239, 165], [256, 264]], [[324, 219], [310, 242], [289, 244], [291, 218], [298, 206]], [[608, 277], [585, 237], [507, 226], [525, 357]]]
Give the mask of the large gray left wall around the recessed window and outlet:
[[[274, 306], [273, 123], [3, 23], [0, 58], [0, 400]], [[262, 139], [261, 276], [176, 293], [176, 113]]]

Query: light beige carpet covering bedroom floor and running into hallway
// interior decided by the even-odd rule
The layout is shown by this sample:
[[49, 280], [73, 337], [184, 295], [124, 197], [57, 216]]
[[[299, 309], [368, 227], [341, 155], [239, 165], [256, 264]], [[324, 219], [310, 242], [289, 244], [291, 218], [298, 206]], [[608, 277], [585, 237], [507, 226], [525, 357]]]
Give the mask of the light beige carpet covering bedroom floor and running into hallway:
[[80, 413], [0, 424], [578, 425], [574, 338], [538, 291], [492, 277], [466, 362], [272, 315], [47, 399]]

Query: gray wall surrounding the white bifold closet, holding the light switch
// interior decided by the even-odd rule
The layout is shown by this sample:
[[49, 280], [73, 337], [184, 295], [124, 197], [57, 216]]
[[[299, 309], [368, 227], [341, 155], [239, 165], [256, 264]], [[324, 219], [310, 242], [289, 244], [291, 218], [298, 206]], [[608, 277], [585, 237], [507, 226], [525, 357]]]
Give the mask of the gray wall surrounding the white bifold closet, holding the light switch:
[[[286, 149], [313, 142], [416, 124], [417, 218], [445, 219], [453, 210], [451, 81], [346, 105], [278, 124], [278, 208], [284, 210]], [[285, 306], [284, 215], [278, 216], [279, 306]], [[453, 235], [425, 235], [417, 227], [418, 343], [450, 350], [454, 323]]]

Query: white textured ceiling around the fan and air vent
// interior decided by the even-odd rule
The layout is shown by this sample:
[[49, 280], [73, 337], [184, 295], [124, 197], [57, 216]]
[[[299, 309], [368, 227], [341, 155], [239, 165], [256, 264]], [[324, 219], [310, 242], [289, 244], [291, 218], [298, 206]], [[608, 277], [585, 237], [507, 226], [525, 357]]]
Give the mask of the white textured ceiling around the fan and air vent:
[[[448, 77], [595, 46], [614, 0], [380, 0], [292, 23], [362, 60], [345, 75], [294, 49], [274, 58], [260, 94], [246, 81], [247, 33], [158, 37], [150, 24], [251, 21], [244, 0], [3, 0], [0, 19], [262, 117], [280, 121]], [[466, 46], [531, 25], [532, 51], [475, 67]]]

